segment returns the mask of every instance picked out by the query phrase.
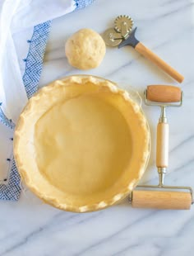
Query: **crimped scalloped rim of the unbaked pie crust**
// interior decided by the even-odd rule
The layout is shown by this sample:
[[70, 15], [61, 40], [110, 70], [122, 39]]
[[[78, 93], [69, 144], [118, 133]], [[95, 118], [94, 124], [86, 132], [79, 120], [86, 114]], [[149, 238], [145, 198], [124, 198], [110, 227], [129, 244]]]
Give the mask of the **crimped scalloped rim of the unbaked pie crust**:
[[[142, 126], [146, 136], [145, 150], [144, 150], [144, 156], [141, 159], [141, 168], [138, 171], [138, 176], [137, 178], [134, 178], [132, 181], [129, 181], [127, 188], [125, 189], [121, 188], [121, 192], [115, 194], [112, 199], [109, 199], [107, 201], [99, 201], [95, 204], [91, 204], [90, 206], [88, 205], [72, 206], [67, 204], [61, 204], [60, 201], [58, 201], [58, 199], [55, 197], [47, 197], [46, 195], [44, 195], [43, 192], [39, 192], [39, 190], [35, 187], [34, 184], [30, 183], [28, 173], [26, 171], [26, 168], [23, 167], [21, 155], [18, 153], [17, 147], [20, 140], [22, 127], [25, 124], [25, 112], [31, 111], [33, 109], [33, 104], [36, 100], [39, 100], [39, 98], [42, 97], [44, 93], [47, 93], [53, 88], [56, 88], [56, 86], [61, 86], [61, 85], [68, 86], [66, 83], [77, 83], [77, 85], [79, 85], [79, 84], [84, 84], [88, 82], [96, 85], [101, 85], [103, 87], [107, 87], [109, 88], [110, 92], [118, 93], [122, 95], [125, 101], [131, 103], [136, 113], [139, 113], [139, 116], [141, 116], [141, 121], [145, 123], [145, 126]], [[69, 76], [67, 78], [62, 78], [61, 80], [53, 81], [53, 83], [49, 83], [44, 88], [39, 89], [39, 91], [36, 92], [35, 95], [30, 98], [24, 110], [21, 112], [21, 116], [19, 117], [19, 120], [16, 124], [16, 130], [14, 135], [14, 156], [16, 159], [16, 166], [18, 168], [19, 173], [21, 174], [21, 179], [25, 182], [27, 187], [29, 187], [30, 190], [34, 192], [35, 195], [39, 197], [41, 200], [43, 200], [45, 203], [64, 211], [73, 211], [73, 212], [99, 211], [109, 206], [112, 206], [113, 204], [118, 203], [119, 201], [127, 197], [127, 195], [129, 195], [129, 193], [131, 193], [132, 190], [136, 187], [142, 175], [145, 173], [146, 165], [150, 157], [150, 129], [146, 121], [146, 117], [144, 116], [141, 110], [141, 107], [139, 107], [136, 104], [136, 102], [134, 102], [131, 99], [130, 94], [127, 91], [118, 88], [115, 85], [115, 83], [108, 80], [104, 80], [104, 78], [98, 78], [98, 77], [87, 76], [87, 75], [74, 75], [74, 76]]]

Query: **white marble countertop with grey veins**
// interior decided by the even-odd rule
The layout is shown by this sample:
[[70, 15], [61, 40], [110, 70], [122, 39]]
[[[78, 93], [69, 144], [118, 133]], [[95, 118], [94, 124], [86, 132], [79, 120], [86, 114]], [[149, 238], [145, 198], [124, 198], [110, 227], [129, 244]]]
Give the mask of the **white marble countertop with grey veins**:
[[[121, 14], [133, 17], [136, 36], [185, 76], [184, 102], [169, 108], [167, 183], [194, 187], [194, 31], [189, 0], [96, 0], [53, 21], [39, 85], [69, 74], [85, 73], [67, 64], [64, 43], [73, 32], [90, 27], [102, 33]], [[132, 86], [141, 95], [148, 84], [174, 84], [171, 78], [129, 46], [108, 48], [103, 64], [86, 73]], [[141, 183], [157, 182], [155, 127], [159, 108], [142, 106], [150, 123], [152, 150]], [[75, 214], [45, 205], [31, 192], [18, 202], [0, 202], [0, 255], [193, 255], [194, 206], [190, 211], [133, 209], [127, 199], [104, 211]]]

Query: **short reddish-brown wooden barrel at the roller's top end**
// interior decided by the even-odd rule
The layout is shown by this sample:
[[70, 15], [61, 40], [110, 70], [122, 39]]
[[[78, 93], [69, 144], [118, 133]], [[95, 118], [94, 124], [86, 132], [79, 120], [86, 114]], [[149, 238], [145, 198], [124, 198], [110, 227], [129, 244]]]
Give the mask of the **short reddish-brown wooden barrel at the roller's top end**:
[[180, 102], [182, 92], [172, 85], [149, 85], [146, 97], [150, 102]]

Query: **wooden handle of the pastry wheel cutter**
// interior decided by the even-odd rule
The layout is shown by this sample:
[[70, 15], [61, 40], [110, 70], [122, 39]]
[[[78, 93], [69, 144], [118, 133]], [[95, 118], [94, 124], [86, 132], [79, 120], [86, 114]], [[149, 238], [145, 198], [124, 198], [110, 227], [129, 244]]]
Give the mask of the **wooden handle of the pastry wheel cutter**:
[[164, 62], [163, 59], [160, 59], [158, 55], [155, 55], [150, 49], [148, 49], [145, 45], [139, 42], [136, 47], [136, 51], [138, 51], [141, 55], [144, 55], [146, 59], [150, 59], [153, 63], [155, 63], [160, 69], [162, 69], [165, 73], [168, 73], [172, 78], [178, 81], [178, 83], [182, 83], [184, 77], [182, 74], [178, 73], [175, 69], [173, 69], [169, 64]]

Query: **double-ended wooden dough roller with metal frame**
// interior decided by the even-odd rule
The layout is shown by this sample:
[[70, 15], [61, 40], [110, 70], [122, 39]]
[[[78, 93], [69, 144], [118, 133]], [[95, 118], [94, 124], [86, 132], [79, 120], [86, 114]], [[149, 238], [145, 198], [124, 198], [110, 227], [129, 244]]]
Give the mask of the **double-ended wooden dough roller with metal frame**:
[[[137, 186], [130, 195], [132, 206], [137, 208], [189, 210], [193, 203], [192, 187], [164, 186], [164, 175], [169, 164], [169, 124], [165, 107], [182, 106], [181, 89], [169, 85], [150, 85], [145, 92], [145, 103], [146, 105], [161, 107], [156, 147], [159, 185]], [[144, 190], [140, 190], [140, 188]]]

